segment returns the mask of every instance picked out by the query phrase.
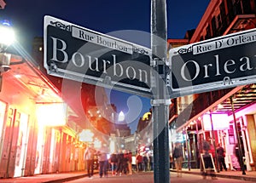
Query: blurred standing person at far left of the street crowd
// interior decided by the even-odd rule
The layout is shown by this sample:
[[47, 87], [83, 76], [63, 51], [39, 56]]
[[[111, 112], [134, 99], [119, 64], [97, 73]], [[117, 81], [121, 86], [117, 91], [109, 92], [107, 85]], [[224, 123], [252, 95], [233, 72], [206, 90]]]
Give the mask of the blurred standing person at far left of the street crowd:
[[86, 163], [86, 169], [87, 169], [87, 174], [89, 178], [92, 178], [93, 176], [93, 159], [95, 155], [95, 150], [87, 146], [87, 148], [84, 151], [84, 162]]

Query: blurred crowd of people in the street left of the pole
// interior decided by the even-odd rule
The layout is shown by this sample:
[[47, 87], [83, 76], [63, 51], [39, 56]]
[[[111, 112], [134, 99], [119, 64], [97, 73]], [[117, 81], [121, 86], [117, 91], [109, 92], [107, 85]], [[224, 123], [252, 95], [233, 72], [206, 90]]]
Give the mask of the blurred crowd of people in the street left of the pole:
[[132, 174], [133, 171], [153, 170], [153, 156], [149, 153], [137, 153], [136, 156], [131, 151], [119, 150], [113, 152], [108, 157], [108, 150], [101, 149], [96, 151], [88, 146], [84, 151], [84, 163], [86, 164], [87, 174], [92, 178], [94, 174], [94, 160], [97, 157], [99, 163], [99, 175], [102, 178], [108, 177], [108, 170], [113, 175]]

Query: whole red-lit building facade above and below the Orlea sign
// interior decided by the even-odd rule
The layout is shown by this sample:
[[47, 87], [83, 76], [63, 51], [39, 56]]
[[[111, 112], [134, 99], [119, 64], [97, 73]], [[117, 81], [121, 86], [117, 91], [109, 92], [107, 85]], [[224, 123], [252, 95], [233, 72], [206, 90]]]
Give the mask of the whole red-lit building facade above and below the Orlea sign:
[[[253, 29], [255, 5], [254, 0], [212, 0], [194, 32], [186, 34], [185, 40], [196, 43]], [[169, 43], [172, 45], [172, 39]], [[249, 84], [175, 100], [175, 110], [170, 111], [171, 149], [173, 142], [183, 142], [184, 167], [200, 167], [201, 141], [209, 140], [215, 148], [218, 144], [224, 146], [229, 169], [242, 169], [234, 152], [240, 142], [244, 169], [255, 170], [255, 91], [254, 84]]]

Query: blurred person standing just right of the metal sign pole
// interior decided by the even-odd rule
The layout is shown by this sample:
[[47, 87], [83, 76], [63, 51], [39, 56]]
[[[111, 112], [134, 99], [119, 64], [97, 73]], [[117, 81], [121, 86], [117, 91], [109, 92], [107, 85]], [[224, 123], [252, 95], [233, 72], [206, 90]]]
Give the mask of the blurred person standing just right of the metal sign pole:
[[172, 157], [175, 158], [177, 177], [182, 177], [183, 150], [180, 142], [177, 142]]

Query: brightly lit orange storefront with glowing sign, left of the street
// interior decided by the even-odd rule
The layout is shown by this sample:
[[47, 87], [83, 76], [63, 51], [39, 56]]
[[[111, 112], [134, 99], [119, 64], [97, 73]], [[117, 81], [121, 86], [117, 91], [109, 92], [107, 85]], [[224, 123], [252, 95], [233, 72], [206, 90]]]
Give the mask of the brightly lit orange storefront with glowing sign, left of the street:
[[16, 64], [1, 73], [0, 178], [84, 169], [74, 112], [36, 66], [20, 60], [12, 55]]

